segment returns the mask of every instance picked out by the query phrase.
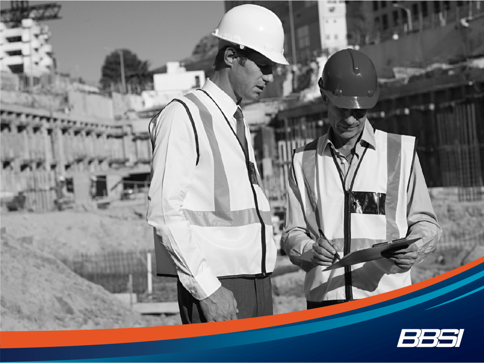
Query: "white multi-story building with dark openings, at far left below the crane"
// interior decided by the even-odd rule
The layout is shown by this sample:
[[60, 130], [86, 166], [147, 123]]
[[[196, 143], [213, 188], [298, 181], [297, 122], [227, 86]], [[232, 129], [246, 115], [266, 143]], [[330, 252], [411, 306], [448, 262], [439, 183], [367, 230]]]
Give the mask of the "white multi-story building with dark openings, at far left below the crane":
[[19, 27], [0, 23], [0, 71], [40, 77], [54, 66], [47, 26], [23, 19]]

